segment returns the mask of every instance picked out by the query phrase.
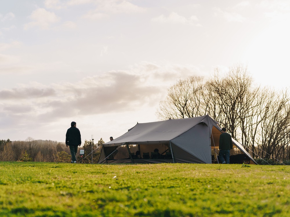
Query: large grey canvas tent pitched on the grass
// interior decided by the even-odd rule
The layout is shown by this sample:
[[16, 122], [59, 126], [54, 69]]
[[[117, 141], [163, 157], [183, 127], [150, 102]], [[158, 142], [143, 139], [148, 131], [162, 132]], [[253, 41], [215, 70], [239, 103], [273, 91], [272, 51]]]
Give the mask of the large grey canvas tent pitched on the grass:
[[[220, 134], [209, 115], [137, 123], [103, 144], [98, 163], [218, 163]], [[234, 139], [230, 161], [257, 164]]]

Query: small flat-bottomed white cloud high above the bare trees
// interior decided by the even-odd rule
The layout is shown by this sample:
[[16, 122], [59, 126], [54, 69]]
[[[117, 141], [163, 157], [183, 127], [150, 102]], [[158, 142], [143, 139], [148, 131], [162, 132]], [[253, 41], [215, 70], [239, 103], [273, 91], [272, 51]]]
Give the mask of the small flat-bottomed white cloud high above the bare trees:
[[[175, 12], [171, 12], [168, 17], [164, 16], [163, 14], [151, 19], [151, 21], [156, 23], [173, 23], [173, 24], [194, 24], [198, 21], [197, 16], [191, 16], [187, 19], [184, 16], [180, 16]], [[199, 25], [200, 26], [200, 25]]]

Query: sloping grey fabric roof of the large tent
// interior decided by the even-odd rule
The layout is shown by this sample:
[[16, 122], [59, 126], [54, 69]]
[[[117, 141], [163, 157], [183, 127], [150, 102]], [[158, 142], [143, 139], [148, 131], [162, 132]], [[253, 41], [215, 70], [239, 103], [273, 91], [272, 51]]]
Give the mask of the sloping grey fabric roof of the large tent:
[[170, 141], [199, 123], [204, 123], [208, 126], [211, 123], [218, 126], [218, 122], [214, 121], [209, 117], [209, 115], [184, 119], [168, 119], [165, 121], [149, 123], [137, 123], [133, 128], [129, 129], [127, 133], [105, 143], [104, 145], [110, 146], [123, 144], [125, 142], [142, 143]]

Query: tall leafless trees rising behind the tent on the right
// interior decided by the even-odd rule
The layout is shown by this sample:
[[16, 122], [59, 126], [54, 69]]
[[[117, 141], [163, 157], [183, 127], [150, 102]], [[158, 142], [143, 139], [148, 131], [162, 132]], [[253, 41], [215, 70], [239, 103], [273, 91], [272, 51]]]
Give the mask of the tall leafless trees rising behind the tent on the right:
[[247, 67], [225, 75], [190, 76], [168, 89], [160, 102], [160, 119], [209, 115], [226, 127], [254, 158], [289, 160], [290, 97], [288, 90], [261, 87]]

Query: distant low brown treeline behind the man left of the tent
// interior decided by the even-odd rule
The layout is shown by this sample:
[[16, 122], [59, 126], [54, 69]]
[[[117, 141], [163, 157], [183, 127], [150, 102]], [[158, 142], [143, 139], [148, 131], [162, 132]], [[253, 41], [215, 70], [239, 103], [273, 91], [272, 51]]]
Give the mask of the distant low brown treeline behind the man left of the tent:
[[[97, 163], [104, 143], [101, 138], [97, 145], [93, 145], [93, 163]], [[79, 150], [84, 149], [83, 163], [92, 163], [91, 141], [85, 140], [84, 145], [78, 148], [77, 158], [81, 162]], [[70, 162], [69, 147], [64, 142], [52, 140], [35, 140], [28, 137], [25, 141], [0, 140], [0, 161], [38, 161], [38, 162]]]

